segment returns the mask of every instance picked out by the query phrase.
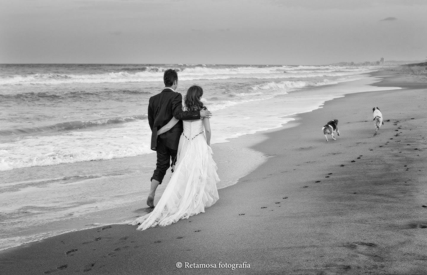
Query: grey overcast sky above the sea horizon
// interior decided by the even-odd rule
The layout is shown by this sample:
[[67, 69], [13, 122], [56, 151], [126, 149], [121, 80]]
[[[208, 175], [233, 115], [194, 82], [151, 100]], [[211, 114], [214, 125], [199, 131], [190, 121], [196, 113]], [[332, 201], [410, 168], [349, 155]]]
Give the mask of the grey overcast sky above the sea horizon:
[[0, 63], [427, 58], [427, 0], [0, 0]]

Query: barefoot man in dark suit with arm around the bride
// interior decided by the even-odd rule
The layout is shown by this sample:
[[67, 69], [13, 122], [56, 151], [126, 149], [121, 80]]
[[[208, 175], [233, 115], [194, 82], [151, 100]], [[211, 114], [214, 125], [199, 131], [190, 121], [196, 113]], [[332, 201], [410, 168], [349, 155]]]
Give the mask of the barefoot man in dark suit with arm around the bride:
[[[157, 152], [156, 169], [151, 177], [150, 193], [147, 198], [147, 205], [150, 208], [154, 208], [155, 191], [163, 181], [169, 166], [172, 167], [173, 172], [179, 138], [183, 131], [181, 120], [209, 118], [212, 115], [207, 110], [182, 111], [182, 96], [175, 92], [178, 87], [178, 73], [175, 70], [166, 70], [163, 75], [163, 82], [164, 90], [160, 94], [150, 97], [148, 104], [148, 123], [152, 131], [150, 148]], [[166, 125], [172, 117], [178, 119], [178, 123], [169, 131], [157, 136], [157, 131]]]

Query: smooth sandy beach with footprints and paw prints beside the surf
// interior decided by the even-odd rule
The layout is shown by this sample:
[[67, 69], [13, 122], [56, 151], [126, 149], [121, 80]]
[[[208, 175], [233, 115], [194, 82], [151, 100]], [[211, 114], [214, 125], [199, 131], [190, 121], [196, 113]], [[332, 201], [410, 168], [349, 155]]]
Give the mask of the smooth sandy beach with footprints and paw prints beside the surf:
[[[350, 94], [298, 115], [297, 127], [231, 141], [263, 140], [254, 148], [268, 160], [205, 214], [8, 249], [0, 273], [427, 274], [427, 84], [406, 73], [382, 72], [378, 84], [405, 89]], [[375, 106], [386, 120], [377, 135]], [[331, 119], [341, 136], [326, 142]]]

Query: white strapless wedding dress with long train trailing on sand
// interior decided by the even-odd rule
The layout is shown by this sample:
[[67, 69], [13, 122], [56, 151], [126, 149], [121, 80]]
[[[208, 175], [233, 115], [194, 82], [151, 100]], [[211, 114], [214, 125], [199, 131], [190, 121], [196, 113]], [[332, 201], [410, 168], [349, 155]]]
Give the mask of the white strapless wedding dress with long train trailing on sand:
[[217, 167], [206, 143], [203, 121], [183, 121], [183, 125], [175, 170], [154, 210], [131, 223], [138, 225], [138, 230], [188, 219], [205, 212], [219, 198]]

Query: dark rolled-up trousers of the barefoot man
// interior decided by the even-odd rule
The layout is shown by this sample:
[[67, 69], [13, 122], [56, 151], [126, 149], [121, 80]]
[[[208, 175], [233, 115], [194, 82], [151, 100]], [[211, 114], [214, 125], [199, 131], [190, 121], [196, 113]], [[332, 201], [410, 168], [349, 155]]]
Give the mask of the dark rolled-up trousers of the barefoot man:
[[[166, 172], [169, 169], [169, 166], [172, 167], [172, 172], [173, 172], [178, 150], [167, 147], [166, 145], [164, 145], [162, 139], [158, 138], [156, 152], [157, 152], [156, 169], [154, 170], [153, 176], [151, 177], [150, 181], [155, 179], [160, 182], [159, 184], [161, 184], [163, 181], [164, 175], [166, 175]], [[172, 161], [172, 164], [171, 164], [171, 161]]]

